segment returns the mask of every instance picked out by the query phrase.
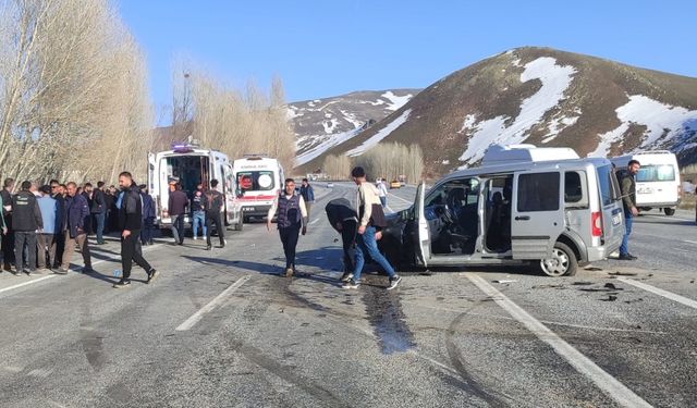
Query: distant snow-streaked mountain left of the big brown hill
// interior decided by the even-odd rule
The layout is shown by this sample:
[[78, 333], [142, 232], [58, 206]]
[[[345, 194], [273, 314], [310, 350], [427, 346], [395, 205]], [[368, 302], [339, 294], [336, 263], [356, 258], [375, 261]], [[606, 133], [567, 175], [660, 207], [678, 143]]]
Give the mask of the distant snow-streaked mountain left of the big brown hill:
[[297, 165], [348, 141], [402, 108], [418, 91], [419, 89], [357, 91], [289, 103], [288, 118], [297, 137]]

